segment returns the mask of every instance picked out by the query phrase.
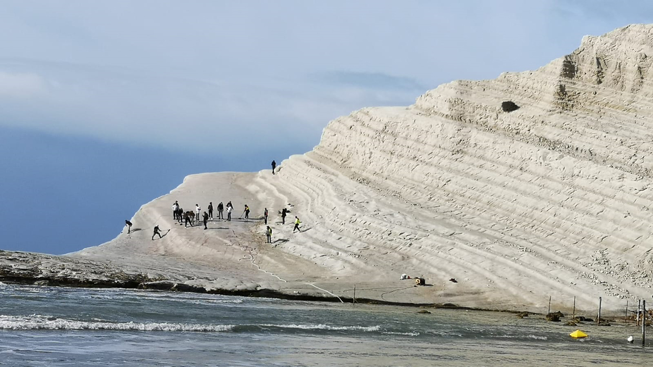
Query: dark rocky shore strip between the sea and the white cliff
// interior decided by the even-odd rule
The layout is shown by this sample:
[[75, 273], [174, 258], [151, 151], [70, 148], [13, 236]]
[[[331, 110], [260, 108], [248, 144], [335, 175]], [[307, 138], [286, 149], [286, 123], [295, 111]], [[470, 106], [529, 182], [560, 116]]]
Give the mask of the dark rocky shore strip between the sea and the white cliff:
[[[169, 264], [168, 264], [169, 265]], [[359, 303], [370, 305], [385, 306], [403, 306], [410, 308], [439, 308], [448, 310], [471, 310], [471, 311], [492, 311], [511, 314], [529, 314], [529, 315], [546, 315], [546, 309], [533, 310], [533, 308], [497, 308], [497, 307], [478, 307], [474, 305], [460, 305], [451, 297], [440, 298], [442, 302], [402, 302], [400, 300], [426, 300], [428, 298], [409, 295], [400, 300], [385, 300], [375, 298], [374, 294], [364, 294], [364, 289], [360, 289], [361, 296], [343, 295], [342, 285], [332, 287], [333, 284], [320, 284], [326, 289], [338, 289], [334, 294], [324, 289], [313, 287], [323, 291], [318, 292], [313, 288], [302, 286], [312, 285], [304, 281], [295, 281], [288, 283], [286, 287], [276, 287], [274, 283], [256, 283], [245, 281], [229, 283], [225, 281], [212, 282], [208, 278], [195, 278], [187, 272], [174, 272], [173, 268], [151, 268], [147, 264], [141, 263], [136, 270], [134, 264], [106, 262], [98, 259], [80, 259], [78, 257], [69, 257], [62, 255], [48, 255], [44, 253], [30, 253], [24, 251], [4, 251], [0, 250], [0, 282], [7, 285], [36, 285], [51, 287], [69, 287], [69, 288], [95, 288], [95, 289], [140, 289], [148, 291], [169, 291], [185, 293], [205, 293], [211, 295], [227, 296], [245, 296], [245, 297], [268, 297], [284, 300], [308, 300], [315, 302], [342, 302], [342, 303]], [[197, 276], [197, 274], [196, 274]], [[215, 276], [218, 276], [215, 274]], [[227, 276], [227, 274], [222, 274]], [[218, 276], [218, 277], [221, 277]], [[217, 280], [217, 279], [216, 279]], [[385, 283], [385, 285], [383, 285]], [[392, 288], [392, 283], [378, 283], [379, 286], [387, 289]], [[401, 289], [415, 289], [411, 292], [419, 292], [422, 287], [413, 285], [412, 287], [403, 287]], [[346, 290], [345, 290], [346, 291]], [[454, 297], [455, 298], [455, 297]], [[354, 302], [355, 301], [355, 302]], [[565, 308], [554, 306], [552, 312], [563, 311], [565, 314], [571, 314]], [[582, 310], [577, 308], [577, 315], [590, 315], [593, 310]], [[618, 313], [613, 310], [605, 310], [606, 317], [616, 317]]]

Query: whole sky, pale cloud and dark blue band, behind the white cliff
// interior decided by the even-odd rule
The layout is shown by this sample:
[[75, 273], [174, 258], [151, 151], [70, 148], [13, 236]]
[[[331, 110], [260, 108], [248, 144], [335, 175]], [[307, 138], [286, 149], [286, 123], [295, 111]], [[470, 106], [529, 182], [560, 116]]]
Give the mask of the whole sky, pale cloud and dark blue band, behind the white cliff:
[[102, 244], [188, 174], [267, 169], [359, 108], [653, 22], [626, 3], [3, 0], [0, 249]]

